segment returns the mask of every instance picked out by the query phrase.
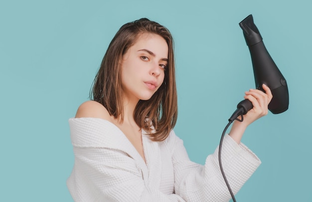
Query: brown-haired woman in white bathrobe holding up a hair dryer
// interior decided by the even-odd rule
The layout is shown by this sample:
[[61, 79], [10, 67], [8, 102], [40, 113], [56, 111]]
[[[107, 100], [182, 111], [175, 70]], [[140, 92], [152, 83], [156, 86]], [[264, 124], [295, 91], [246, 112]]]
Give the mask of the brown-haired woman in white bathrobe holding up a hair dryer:
[[[268, 113], [270, 89], [246, 92], [253, 109], [234, 121], [222, 162], [237, 193], [260, 165], [240, 140]], [[177, 96], [173, 41], [160, 24], [142, 18], [123, 25], [103, 58], [93, 100], [69, 120], [75, 165], [67, 180], [76, 202], [224, 202], [231, 196], [218, 152], [204, 166], [188, 159], [174, 134]]]

